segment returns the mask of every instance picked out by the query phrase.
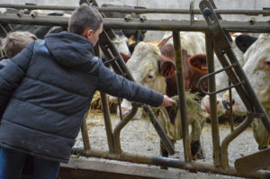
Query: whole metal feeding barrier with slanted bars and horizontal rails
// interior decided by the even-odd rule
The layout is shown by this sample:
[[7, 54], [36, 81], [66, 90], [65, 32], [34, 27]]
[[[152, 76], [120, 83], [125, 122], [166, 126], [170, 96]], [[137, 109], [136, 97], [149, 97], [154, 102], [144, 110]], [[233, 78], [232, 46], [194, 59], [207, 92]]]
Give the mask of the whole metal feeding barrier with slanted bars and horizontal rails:
[[[139, 164], [155, 165], [155, 166], [166, 166], [182, 168], [190, 171], [199, 171], [206, 173], [215, 173], [221, 175], [234, 175], [243, 176], [249, 178], [268, 178], [270, 177], [269, 172], [257, 169], [261, 169], [261, 166], [270, 166], [269, 160], [264, 162], [264, 165], [260, 167], [241, 166], [242, 161], [248, 161], [254, 159], [254, 161], [261, 161], [262, 157], [267, 158], [269, 150], [263, 150], [258, 154], [251, 155], [250, 157], [239, 158], [236, 162], [236, 168], [229, 166], [228, 158], [228, 146], [229, 143], [238, 137], [238, 135], [247, 129], [254, 117], [260, 118], [266, 127], [266, 130], [270, 131], [269, 117], [266, 115], [264, 108], [258, 101], [256, 94], [254, 93], [251, 85], [249, 84], [243, 69], [239, 66], [238, 60], [230, 49], [229, 45], [229, 31], [245, 31], [245, 32], [270, 32], [269, 22], [223, 22], [221, 21], [220, 14], [247, 14], [247, 15], [269, 15], [269, 9], [264, 10], [220, 10], [217, 9], [213, 1], [202, 0], [200, 3], [200, 9], [193, 9], [193, 3], [190, 5], [190, 9], [182, 10], [167, 10], [167, 9], [140, 9], [140, 8], [103, 8], [98, 7], [96, 1], [93, 1], [93, 5], [100, 12], [121, 12], [121, 13], [187, 13], [190, 14], [190, 21], [169, 21], [169, 20], [148, 20], [144, 19], [135, 20], [131, 19], [125, 21], [124, 19], [115, 18], [104, 18], [103, 22], [103, 33], [100, 35], [99, 46], [102, 49], [105, 59], [103, 63], [111, 66], [115, 73], [121, 74], [128, 79], [134, 81], [131, 76], [129, 69], [126, 67], [121, 55], [114, 47], [112, 39], [114, 33], [112, 29], [132, 29], [132, 30], [153, 30], [153, 31], [173, 31], [173, 40], [175, 48], [175, 63], [176, 63], [176, 76], [177, 76], [177, 90], [179, 94], [179, 106], [182, 120], [182, 133], [184, 143], [184, 161], [181, 159], [169, 158], [169, 157], [154, 157], [145, 155], [134, 155], [121, 150], [120, 133], [130, 119], [137, 112], [139, 107], [143, 107], [149, 114], [149, 118], [154, 128], [157, 130], [157, 134], [166, 146], [167, 151], [170, 154], [174, 154], [175, 149], [168, 139], [165, 130], [161, 127], [157, 121], [157, 117], [152, 112], [151, 108], [146, 105], [139, 105], [133, 103], [131, 112], [123, 118], [119, 124], [112, 130], [112, 123], [110, 117], [110, 110], [106, 94], [101, 93], [101, 100], [103, 104], [103, 116], [105, 129], [108, 140], [109, 151], [91, 148], [89, 136], [86, 128], [86, 121], [82, 124], [82, 135], [84, 140], [84, 148], [73, 148], [73, 154], [80, 154], [85, 157], [101, 157], [106, 159], [114, 159], [120, 161], [127, 161]], [[58, 6], [41, 6], [41, 5], [14, 5], [14, 4], [0, 4], [0, 7], [16, 8], [16, 9], [47, 9], [47, 10], [62, 10], [72, 11], [76, 7], [58, 7]], [[205, 18], [204, 21], [194, 21], [193, 14], [202, 14]], [[9, 23], [23, 23], [23, 24], [42, 24], [42, 25], [60, 25], [67, 26], [67, 17], [53, 17], [53, 16], [31, 16], [27, 14], [1, 14], [0, 13], [0, 32], [12, 31], [9, 28]], [[9, 28], [9, 29], [8, 29]], [[188, 122], [185, 109], [184, 99], [184, 81], [183, 81], [183, 69], [182, 69], [182, 54], [181, 54], [181, 41], [180, 31], [204, 31], [206, 40], [206, 52], [207, 52], [207, 66], [208, 75], [203, 76], [201, 81], [208, 78], [209, 92], [204, 92], [210, 95], [211, 104], [211, 132], [212, 132], [212, 143], [213, 143], [213, 165], [192, 161], [191, 148], [189, 141], [189, 130]], [[213, 51], [215, 51], [217, 57], [220, 60], [220, 64], [224, 67], [222, 70], [214, 72], [214, 60]], [[95, 55], [99, 55], [99, 48], [95, 48]], [[225, 57], [226, 55], [226, 57]], [[231, 131], [229, 135], [221, 141], [220, 145], [220, 134], [219, 124], [217, 116], [216, 106], [216, 94], [223, 90], [215, 90], [215, 75], [225, 71], [229, 76], [229, 81], [232, 83], [226, 89], [235, 87], [238, 94], [240, 95], [243, 103], [247, 107], [247, 119], [243, 121], [238, 128]], [[200, 83], [199, 83], [200, 85]], [[258, 159], [259, 158], [259, 159]], [[247, 160], [246, 160], [247, 159]], [[264, 160], [265, 161], [265, 160]], [[239, 173], [239, 172], [240, 173]], [[252, 174], [247, 172], [255, 171]]]

